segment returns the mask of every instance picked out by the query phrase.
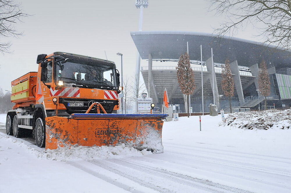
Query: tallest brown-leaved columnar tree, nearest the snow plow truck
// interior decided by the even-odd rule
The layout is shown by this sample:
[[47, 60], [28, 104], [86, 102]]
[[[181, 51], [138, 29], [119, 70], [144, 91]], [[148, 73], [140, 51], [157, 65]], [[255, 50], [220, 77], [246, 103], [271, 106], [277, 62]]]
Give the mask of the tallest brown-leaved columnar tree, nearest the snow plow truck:
[[194, 72], [190, 66], [190, 58], [188, 53], [182, 54], [180, 56], [178, 67], [176, 67], [176, 69], [178, 84], [182, 93], [187, 96], [185, 98], [187, 98], [187, 113], [189, 117], [189, 96], [194, 92], [196, 85], [194, 82]]

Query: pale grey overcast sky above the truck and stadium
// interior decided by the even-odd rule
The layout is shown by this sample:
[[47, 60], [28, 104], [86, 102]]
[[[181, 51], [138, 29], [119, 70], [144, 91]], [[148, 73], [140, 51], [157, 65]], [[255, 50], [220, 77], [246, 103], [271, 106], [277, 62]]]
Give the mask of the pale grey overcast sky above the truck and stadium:
[[[16, 0], [18, 1], [18, 0]], [[33, 16], [16, 24], [24, 36], [1, 38], [12, 42], [13, 54], [0, 54], [0, 87], [11, 90], [10, 82], [27, 72], [37, 71], [38, 54], [55, 51], [106, 59], [120, 69], [123, 53], [124, 78], [135, 71], [136, 47], [130, 31], [138, 31], [139, 9], [135, 0], [51, 0], [22, 1], [22, 9]], [[212, 33], [224, 21], [207, 12], [205, 0], [149, 0], [143, 12], [143, 31], [196, 31]], [[260, 41], [253, 26], [235, 37]], [[142, 62], [145, 64], [145, 62]], [[166, 63], [164, 63], [166, 64]]]

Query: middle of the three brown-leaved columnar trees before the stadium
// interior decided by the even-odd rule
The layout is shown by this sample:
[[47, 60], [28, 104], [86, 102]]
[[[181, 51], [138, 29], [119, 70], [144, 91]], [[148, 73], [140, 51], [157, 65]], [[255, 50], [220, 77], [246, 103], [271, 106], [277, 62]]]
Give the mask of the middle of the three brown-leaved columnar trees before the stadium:
[[222, 76], [221, 88], [224, 92], [224, 95], [228, 96], [229, 108], [230, 108], [230, 112], [232, 112], [231, 111], [230, 97], [233, 96], [234, 81], [233, 81], [233, 75], [231, 74], [231, 70], [230, 70], [229, 60], [225, 61], [225, 66], [223, 67], [223, 70], [221, 72], [221, 76]]

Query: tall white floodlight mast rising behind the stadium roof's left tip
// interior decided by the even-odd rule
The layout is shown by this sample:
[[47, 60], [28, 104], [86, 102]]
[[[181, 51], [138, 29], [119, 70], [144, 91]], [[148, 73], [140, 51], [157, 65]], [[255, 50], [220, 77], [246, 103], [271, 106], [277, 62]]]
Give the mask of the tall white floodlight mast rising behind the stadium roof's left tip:
[[[140, 9], [139, 12], [139, 31], [142, 30], [143, 27], [143, 8], [148, 8], [148, 0], [136, 0], [135, 1], [136, 8]], [[134, 87], [137, 89], [136, 92], [139, 92], [139, 71], [141, 69], [141, 56], [139, 54], [139, 51], [137, 51], [136, 56], [136, 70], [135, 70], [135, 85]], [[139, 93], [137, 93], [139, 94]], [[137, 103], [136, 103], [136, 112], [137, 112]]]

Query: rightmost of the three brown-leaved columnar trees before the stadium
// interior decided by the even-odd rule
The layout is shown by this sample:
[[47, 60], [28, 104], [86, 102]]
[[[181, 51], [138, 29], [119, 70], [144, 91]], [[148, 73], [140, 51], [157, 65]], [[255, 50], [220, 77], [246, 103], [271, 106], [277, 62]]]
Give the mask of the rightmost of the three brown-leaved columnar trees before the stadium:
[[260, 63], [259, 69], [259, 90], [263, 96], [265, 96], [265, 109], [267, 109], [267, 96], [270, 95], [271, 90], [271, 83], [270, 77], [268, 74], [266, 62], [263, 60]]

